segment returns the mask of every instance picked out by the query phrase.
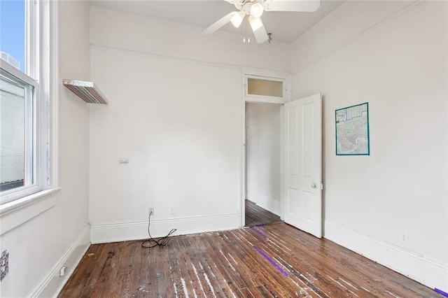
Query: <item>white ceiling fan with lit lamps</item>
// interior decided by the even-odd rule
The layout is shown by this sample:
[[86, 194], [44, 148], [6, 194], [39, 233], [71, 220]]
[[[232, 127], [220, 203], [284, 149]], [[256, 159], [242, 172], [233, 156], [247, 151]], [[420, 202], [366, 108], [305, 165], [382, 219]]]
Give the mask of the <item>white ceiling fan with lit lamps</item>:
[[209, 35], [231, 22], [236, 28], [248, 15], [248, 22], [251, 24], [253, 35], [258, 43], [264, 43], [269, 39], [265, 26], [261, 21], [264, 11], [297, 11], [314, 12], [321, 6], [320, 0], [225, 0], [232, 3], [237, 11], [232, 11], [220, 20], [214, 22], [201, 34]]

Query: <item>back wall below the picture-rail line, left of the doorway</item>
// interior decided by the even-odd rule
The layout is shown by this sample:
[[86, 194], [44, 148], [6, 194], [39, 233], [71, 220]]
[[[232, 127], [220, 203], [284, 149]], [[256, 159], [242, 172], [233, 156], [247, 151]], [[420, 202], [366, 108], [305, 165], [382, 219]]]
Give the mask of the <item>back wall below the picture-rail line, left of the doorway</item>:
[[146, 237], [149, 207], [154, 236], [238, 227], [239, 71], [92, 47], [92, 78], [109, 99], [90, 115], [92, 241]]

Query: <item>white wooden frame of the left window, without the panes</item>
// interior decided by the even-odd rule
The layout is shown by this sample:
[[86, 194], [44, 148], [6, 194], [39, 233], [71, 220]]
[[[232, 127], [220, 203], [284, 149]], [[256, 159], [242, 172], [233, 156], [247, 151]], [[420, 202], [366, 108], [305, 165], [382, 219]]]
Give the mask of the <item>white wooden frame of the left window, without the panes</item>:
[[34, 87], [32, 141], [31, 146], [25, 146], [32, 150], [33, 183], [0, 192], [0, 206], [9, 206], [50, 187], [50, 6], [46, 1], [25, 1], [25, 5], [25, 73], [1, 59], [0, 66], [10, 77]]

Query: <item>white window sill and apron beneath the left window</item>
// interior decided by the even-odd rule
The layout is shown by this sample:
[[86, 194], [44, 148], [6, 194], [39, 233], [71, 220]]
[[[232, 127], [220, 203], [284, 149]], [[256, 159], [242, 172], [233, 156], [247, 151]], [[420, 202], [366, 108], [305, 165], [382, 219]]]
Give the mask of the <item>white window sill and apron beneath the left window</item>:
[[55, 206], [56, 197], [53, 194], [59, 190], [61, 187], [43, 190], [0, 205], [0, 235]]

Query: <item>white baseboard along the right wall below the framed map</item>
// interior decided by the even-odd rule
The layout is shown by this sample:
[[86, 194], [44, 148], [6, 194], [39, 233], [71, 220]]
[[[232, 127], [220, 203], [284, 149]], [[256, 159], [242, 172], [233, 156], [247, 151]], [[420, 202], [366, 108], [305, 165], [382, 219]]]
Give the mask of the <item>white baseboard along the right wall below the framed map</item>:
[[325, 220], [325, 238], [429, 288], [448, 292], [448, 264], [372, 239], [328, 220]]

